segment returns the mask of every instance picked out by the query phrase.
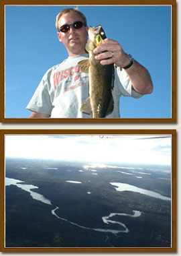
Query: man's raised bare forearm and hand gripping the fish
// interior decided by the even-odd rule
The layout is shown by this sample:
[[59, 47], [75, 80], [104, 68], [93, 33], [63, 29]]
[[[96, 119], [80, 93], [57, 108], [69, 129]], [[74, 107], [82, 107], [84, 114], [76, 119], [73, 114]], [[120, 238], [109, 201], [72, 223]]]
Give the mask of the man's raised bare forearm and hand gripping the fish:
[[[103, 40], [103, 42], [94, 50], [94, 53], [99, 53], [95, 58], [97, 60], [102, 60], [101, 64], [103, 65], [115, 63], [117, 67], [122, 68], [129, 64], [129, 58], [123, 51], [119, 42], [108, 38]], [[133, 65], [128, 69], [125, 69], [125, 71], [131, 80], [133, 90], [139, 94], [152, 93], [152, 79], [145, 67], [135, 61], [135, 63], [133, 63]]]

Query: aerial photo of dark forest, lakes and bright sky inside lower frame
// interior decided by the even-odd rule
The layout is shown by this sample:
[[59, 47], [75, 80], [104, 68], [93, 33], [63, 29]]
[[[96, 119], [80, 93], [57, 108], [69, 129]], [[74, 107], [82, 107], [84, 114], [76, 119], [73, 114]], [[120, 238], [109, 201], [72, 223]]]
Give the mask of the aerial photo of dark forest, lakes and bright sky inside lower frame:
[[171, 135], [5, 135], [5, 247], [172, 247]]

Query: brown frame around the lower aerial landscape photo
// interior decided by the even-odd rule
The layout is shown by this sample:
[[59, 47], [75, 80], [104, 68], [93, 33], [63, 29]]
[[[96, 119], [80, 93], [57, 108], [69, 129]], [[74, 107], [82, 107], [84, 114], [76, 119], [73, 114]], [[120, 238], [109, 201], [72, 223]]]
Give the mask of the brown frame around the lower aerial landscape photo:
[[[104, 248], [6, 248], [4, 247], [4, 234], [5, 234], [5, 227], [4, 227], [4, 218], [5, 218], [5, 205], [4, 205], [4, 189], [5, 189], [5, 184], [4, 184], [4, 168], [5, 168], [5, 145], [4, 145], [4, 139], [5, 135], [107, 135], [107, 134], [119, 134], [119, 135], [158, 135], [158, 134], [166, 134], [166, 135], [172, 135], [172, 247], [169, 248], [119, 248], [119, 247], [104, 247]], [[3, 230], [1, 232], [1, 237], [0, 237], [0, 251], [2, 252], [86, 252], [86, 253], [108, 253], [108, 252], [113, 252], [113, 253], [119, 253], [119, 252], [167, 252], [167, 253], [172, 253], [176, 252], [176, 130], [175, 129], [162, 129], [162, 130], [117, 130], [117, 129], [110, 129], [110, 130], [78, 130], [78, 129], [72, 129], [72, 130], [40, 130], [40, 129], [35, 129], [35, 130], [17, 130], [17, 129], [7, 129], [7, 130], [1, 130], [0, 131], [0, 144], [1, 149], [0, 149], [0, 154], [1, 154], [1, 162], [0, 162], [0, 207], [1, 207], [1, 213], [0, 213], [0, 229]]]

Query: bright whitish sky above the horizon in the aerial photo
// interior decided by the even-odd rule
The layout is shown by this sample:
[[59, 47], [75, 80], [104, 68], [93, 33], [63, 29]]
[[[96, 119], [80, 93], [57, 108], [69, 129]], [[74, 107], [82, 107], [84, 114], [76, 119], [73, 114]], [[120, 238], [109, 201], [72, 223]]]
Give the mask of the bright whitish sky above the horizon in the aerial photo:
[[171, 135], [5, 135], [5, 156], [171, 165], [171, 143]]

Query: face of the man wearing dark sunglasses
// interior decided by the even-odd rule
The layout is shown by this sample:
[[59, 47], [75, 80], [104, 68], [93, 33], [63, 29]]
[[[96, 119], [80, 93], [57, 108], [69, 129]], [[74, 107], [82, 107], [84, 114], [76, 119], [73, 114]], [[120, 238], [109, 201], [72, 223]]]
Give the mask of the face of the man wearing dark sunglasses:
[[[66, 13], [62, 15], [58, 21], [59, 28], [64, 24], [72, 24], [73, 22], [81, 21], [82, 18], [77, 13]], [[64, 44], [69, 56], [81, 55], [86, 53], [85, 44], [87, 41], [88, 27], [82, 26], [82, 28], [75, 29], [70, 26], [68, 32], [58, 32], [58, 39]]]

